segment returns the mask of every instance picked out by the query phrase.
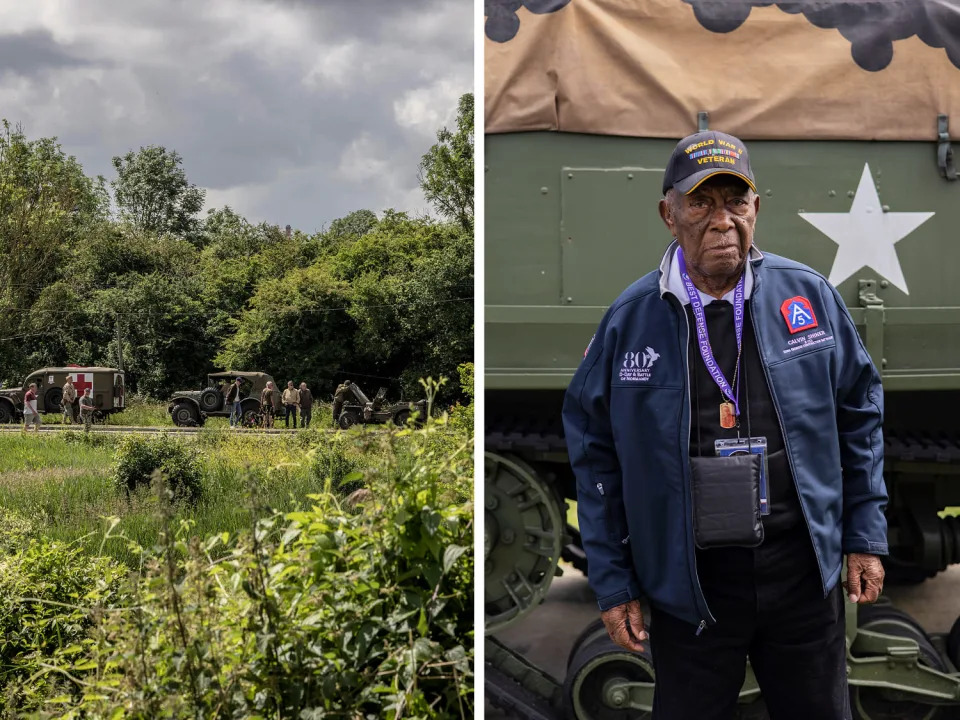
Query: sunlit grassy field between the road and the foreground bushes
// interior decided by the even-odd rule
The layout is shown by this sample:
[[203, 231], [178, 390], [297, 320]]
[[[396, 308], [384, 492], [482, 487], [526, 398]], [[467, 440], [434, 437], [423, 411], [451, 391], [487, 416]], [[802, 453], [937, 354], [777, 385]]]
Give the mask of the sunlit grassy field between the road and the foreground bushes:
[[[177, 508], [200, 537], [236, 532], [251, 523], [253, 498], [261, 507], [290, 510], [323, 489], [331, 474], [339, 479], [381, 462], [382, 437], [370, 433], [324, 434], [311, 430], [289, 436], [237, 436], [216, 428], [201, 431], [203, 492], [200, 500]], [[131, 495], [113, 480], [112, 436], [0, 436], [0, 507], [30, 520], [52, 540], [79, 543], [135, 566], [128, 545], [157, 542], [159, 499], [149, 488]], [[192, 440], [184, 442], [192, 443]], [[119, 518], [119, 522], [105, 532]]]

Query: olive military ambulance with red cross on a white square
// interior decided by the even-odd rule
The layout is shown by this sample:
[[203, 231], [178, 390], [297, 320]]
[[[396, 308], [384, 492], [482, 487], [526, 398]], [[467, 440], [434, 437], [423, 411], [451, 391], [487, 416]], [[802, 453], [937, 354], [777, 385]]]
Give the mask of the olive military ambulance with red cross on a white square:
[[[94, 422], [102, 422], [107, 415], [122, 412], [124, 408], [124, 374], [122, 370], [107, 367], [66, 365], [47, 367], [30, 373], [19, 388], [0, 390], [0, 423], [19, 422], [23, 419], [23, 396], [30, 383], [37, 384], [37, 410], [41, 413], [63, 411], [63, 384], [67, 377], [73, 380], [77, 396], [90, 388], [96, 410]], [[79, 415], [79, 400], [74, 403], [75, 417]]]

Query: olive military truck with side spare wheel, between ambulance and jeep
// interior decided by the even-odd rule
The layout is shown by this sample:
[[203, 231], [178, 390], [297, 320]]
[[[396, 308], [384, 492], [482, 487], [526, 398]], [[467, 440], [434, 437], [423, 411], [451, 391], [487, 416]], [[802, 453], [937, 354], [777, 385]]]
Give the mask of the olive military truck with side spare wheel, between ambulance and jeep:
[[[226, 402], [226, 393], [237, 378], [243, 383], [240, 389], [242, 424], [252, 426], [256, 424], [260, 413], [260, 393], [273, 382], [273, 377], [262, 372], [246, 372], [230, 370], [207, 375], [207, 382], [200, 390], [182, 390], [175, 392], [167, 406], [167, 412], [173, 419], [173, 424], [179, 427], [202, 426], [207, 418], [230, 417], [232, 404]], [[276, 382], [273, 383], [276, 387]], [[274, 409], [279, 410], [280, 393], [274, 393]]]

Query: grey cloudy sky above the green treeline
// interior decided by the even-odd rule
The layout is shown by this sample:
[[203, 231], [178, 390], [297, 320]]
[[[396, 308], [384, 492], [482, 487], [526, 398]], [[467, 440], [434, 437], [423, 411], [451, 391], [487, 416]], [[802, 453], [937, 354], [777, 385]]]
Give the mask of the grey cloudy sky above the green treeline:
[[207, 206], [319, 230], [426, 211], [416, 166], [473, 85], [473, 0], [0, 3], [0, 117], [88, 175], [163, 145]]

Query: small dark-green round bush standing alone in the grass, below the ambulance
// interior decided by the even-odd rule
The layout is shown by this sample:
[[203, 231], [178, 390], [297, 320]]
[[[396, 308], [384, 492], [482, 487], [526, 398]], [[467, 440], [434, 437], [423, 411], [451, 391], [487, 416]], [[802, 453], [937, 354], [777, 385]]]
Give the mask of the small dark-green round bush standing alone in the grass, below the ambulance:
[[160, 472], [175, 497], [190, 501], [200, 497], [200, 454], [177, 438], [127, 435], [117, 445], [114, 459], [113, 479], [122, 490], [149, 485], [153, 474]]

